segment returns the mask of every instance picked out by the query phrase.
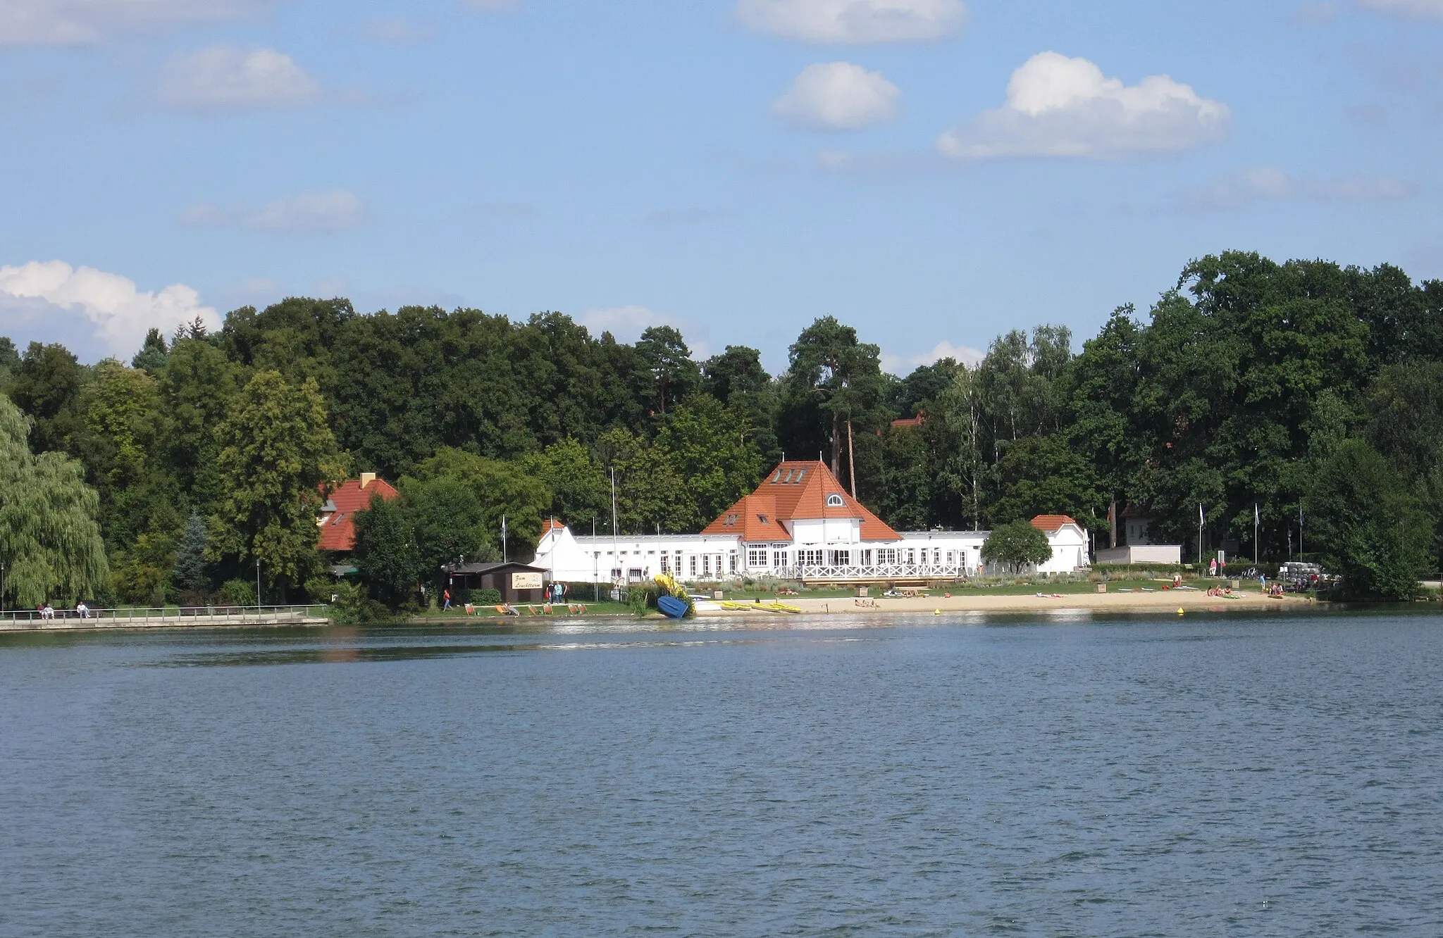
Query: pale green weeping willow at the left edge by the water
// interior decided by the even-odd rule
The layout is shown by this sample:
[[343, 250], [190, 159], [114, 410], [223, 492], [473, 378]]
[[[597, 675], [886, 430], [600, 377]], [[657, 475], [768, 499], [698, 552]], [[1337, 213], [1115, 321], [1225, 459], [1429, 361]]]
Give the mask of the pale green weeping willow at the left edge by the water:
[[110, 580], [100, 496], [81, 463], [30, 452], [30, 420], [0, 395], [0, 560], [7, 602], [94, 597]]

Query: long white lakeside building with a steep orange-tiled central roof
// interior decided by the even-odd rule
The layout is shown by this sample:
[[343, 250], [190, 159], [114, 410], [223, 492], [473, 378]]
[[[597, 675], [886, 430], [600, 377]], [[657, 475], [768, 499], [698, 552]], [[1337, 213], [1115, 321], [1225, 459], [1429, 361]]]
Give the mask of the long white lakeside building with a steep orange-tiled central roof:
[[[1039, 521], [1046, 520], [1045, 524]], [[1088, 566], [1087, 532], [1065, 515], [1033, 525], [1053, 544], [1040, 571]], [[987, 531], [893, 531], [823, 462], [784, 462], [701, 534], [577, 537], [547, 521], [532, 561], [551, 580], [955, 580], [981, 570]]]

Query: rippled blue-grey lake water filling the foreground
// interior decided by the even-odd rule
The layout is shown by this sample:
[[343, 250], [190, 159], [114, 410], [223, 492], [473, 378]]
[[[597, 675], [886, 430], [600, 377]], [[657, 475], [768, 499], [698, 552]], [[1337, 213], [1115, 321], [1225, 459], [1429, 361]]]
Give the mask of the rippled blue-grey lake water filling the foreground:
[[1443, 934], [1443, 618], [0, 636], [0, 934]]

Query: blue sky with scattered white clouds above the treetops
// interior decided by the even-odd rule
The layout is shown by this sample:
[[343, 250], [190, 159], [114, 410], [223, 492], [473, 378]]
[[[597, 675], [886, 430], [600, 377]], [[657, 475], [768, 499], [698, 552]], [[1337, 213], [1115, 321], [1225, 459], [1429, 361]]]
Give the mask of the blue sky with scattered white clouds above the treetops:
[[0, 335], [286, 296], [898, 374], [1224, 250], [1443, 277], [1443, 0], [3, 0]]

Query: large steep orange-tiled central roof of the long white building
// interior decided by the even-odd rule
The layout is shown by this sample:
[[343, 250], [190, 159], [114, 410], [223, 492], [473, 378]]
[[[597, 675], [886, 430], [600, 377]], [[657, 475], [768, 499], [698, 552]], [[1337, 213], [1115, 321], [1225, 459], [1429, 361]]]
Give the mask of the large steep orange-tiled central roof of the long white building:
[[784, 462], [756, 491], [743, 495], [703, 534], [736, 534], [743, 541], [789, 541], [795, 521], [820, 518], [861, 521], [863, 541], [896, 541], [900, 535], [841, 488], [827, 463]]

